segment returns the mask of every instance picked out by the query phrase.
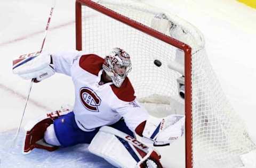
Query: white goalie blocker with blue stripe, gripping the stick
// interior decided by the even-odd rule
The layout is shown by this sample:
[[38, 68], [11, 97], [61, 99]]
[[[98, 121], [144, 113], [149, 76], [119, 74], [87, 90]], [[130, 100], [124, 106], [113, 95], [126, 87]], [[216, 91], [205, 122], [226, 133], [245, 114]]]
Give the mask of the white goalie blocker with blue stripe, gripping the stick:
[[55, 73], [51, 54], [45, 52], [19, 56], [13, 60], [12, 70], [23, 79], [36, 79], [36, 81], [42, 81]]

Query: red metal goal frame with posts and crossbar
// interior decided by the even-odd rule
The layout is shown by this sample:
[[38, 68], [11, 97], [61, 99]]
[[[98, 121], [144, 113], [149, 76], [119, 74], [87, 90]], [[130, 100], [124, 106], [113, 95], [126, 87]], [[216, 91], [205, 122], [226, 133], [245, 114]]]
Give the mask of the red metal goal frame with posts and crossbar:
[[119, 22], [127, 24], [147, 35], [164, 41], [167, 44], [181, 49], [185, 53], [185, 148], [186, 148], [186, 168], [193, 167], [193, 117], [192, 117], [192, 87], [191, 87], [191, 47], [172, 37], [166, 36], [163, 33], [149, 28], [137, 21], [134, 21], [126, 16], [114, 12], [106, 7], [97, 4], [91, 0], [76, 0], [76, 49], [82, 51], [82, 5], [90, 7], [104, 15], [109, 16]]

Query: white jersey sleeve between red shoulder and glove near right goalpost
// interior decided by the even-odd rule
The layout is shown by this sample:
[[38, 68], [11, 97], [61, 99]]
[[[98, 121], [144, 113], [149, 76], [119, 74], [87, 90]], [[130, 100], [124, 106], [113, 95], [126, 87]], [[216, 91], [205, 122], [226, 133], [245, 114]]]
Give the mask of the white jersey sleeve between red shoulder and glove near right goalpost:
[[120, 103], [115, 110], [124, 118], [127, 127], [133, 132], [135, 132], [140, 123], [149, 117], [148, 112], [140, 105], [137, 99], [132, 102]]

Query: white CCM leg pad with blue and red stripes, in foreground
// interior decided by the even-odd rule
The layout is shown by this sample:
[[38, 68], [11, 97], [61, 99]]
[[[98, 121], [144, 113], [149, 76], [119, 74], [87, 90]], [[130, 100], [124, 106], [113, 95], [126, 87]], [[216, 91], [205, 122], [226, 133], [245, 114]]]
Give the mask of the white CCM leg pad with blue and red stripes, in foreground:
[[88, 148], [116, 167], [149, 167], [149, 161], [162, 167], [161, 156], [153, 148], [111, 127], [101, 127]]

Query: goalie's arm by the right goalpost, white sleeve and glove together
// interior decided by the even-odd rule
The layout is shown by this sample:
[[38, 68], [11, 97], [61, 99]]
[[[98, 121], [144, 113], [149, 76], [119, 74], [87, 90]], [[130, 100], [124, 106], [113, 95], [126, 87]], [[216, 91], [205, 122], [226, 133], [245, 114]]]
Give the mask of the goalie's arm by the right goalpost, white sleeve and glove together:
[[145, 108], [134, 99], [116, 111], [124, 117], [130, 130], [142, 137], [142, 140], [154, 146], [170, 145], [184, 133], [185, 116], [169, 115], [162, 119], [149, 116]]

